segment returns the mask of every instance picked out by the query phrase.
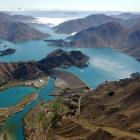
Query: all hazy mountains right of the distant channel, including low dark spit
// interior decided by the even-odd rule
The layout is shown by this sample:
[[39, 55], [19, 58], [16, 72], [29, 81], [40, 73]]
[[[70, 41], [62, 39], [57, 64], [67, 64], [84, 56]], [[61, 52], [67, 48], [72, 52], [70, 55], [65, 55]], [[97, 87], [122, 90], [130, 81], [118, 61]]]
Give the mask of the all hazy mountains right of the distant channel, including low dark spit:
[[[103, 17], [109, 19], [109, 16], [105, 15], [94, 15], [89, 17], [92, 17], [94, 22], [96, 21], [94, 19], [96, 19], [97, 17], [98, 19], [103, 19]], [[82, 20], [84, 20], [84, 22], [86, 22], [88, 26], [79, 24], [79, 20], [72, 20], [62, 23], [55, 27], [57, 28], [57, 32], [64, 31], [63, 33], [66, 33], [66, 30], [69, 30], [69, 33], [73, 32], [73, 30], [77, 28], [77, 26], [73, 28], [73, 24], [71, 22], [73, 22], [76, 25], [79, 24], [80, 27], [76, 31], [81, 31], [79, 31], [75, 35], [71, 35], [68, 38], [70, 41], [48, 40], [49, 44], [59, 47], [109, 47], [113, 49], [118, 49], [120, 52], [127, 53], [131, 56], [134, 56], [137, 60], [140, 60], [140, 18], [134, 18], [134, 20], [124, 20], [120, 18], [110, 19], [112, 19], [111, 22], [109, 20], [104, 20], [104, 22], [108, 22], [101, 25], [96, 24], [96, 26], [95, 24], [90, 24], [87, 18]], [[103, 23], [103, 21], [100, 23]], [[129, 25], [127, 23], [129, 23]]]

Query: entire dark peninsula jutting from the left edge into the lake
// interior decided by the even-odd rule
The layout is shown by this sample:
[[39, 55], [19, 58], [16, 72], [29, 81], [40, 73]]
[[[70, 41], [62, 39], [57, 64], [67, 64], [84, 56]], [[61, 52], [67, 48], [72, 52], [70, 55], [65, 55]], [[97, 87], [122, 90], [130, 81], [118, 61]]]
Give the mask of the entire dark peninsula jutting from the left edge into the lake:
[[37, 62], [0, 63], [0, 85], [1, 88], [11, 85], [10, 83], [36, 85], [37, 81], [41, 83], [39, 85], [42, 83], [44, 85], [45, 77], [50, 75], [55, 68], [70, 66], [84, 68], [87, 67], [88, 59], [88, 56], [80, 51], [66, 52], [58, 49]]

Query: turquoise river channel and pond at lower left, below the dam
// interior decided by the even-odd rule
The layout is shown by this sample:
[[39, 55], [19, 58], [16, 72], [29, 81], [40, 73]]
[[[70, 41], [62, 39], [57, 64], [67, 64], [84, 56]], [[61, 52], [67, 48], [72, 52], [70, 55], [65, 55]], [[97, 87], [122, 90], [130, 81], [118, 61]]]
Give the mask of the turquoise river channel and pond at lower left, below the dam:
[[[32, 92], [39, 95], [38, 99], [33, 101], [31, 104], [25, 107], [24, 111], [16, 113], [10, 117], [4, 126], [0, 127], [0, 132], [7, 131], [12, 136], [12, 140], [24, 140], [24, 130], [23, 130], [23, 118], [24, 116], [35, 106], [39, 101], [51, 100], [52, 97], [49, 96], [49, 93], [54, 91], [54, 82], [53, 79], [49, 79], [48, 84], [42, 89], [36, 90], [32, 87], [13, 87], [2, 91], [0, 93], [0, 104], [3, 103], [3, 107], [15, 105], [19, 102], [24, 96], [31, 94]], [[18, 91], [20, 93], [18, 93]], [[3, 95], [2, 95], [3, 94]], [[4, 97], [3, 97], [4, 96]], [[6, 100], [5, 100], [6, 97]], [[9, 102], [8, 102], [9, 101]], [[5, 105], [5, 106], [4, 106]]]

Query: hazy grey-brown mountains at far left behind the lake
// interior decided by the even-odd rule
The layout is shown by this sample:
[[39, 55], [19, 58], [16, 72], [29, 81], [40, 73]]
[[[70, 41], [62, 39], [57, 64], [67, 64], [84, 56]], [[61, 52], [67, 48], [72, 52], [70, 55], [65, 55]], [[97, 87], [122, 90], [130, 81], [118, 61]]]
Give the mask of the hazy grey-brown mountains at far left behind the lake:
[[0, 13], [0, 38], [11, 42], [47, 38], [48, 34], [44, 34], [22, 22], [31, 19], [34, 18]]

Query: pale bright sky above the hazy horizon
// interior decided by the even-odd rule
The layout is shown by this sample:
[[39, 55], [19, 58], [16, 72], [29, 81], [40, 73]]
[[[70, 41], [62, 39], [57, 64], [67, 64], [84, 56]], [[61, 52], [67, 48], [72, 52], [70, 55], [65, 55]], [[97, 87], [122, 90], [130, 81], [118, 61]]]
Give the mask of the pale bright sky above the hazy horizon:
[[0, 0], [0, 10], [93, 10], [140, 12], [140, 0]]

